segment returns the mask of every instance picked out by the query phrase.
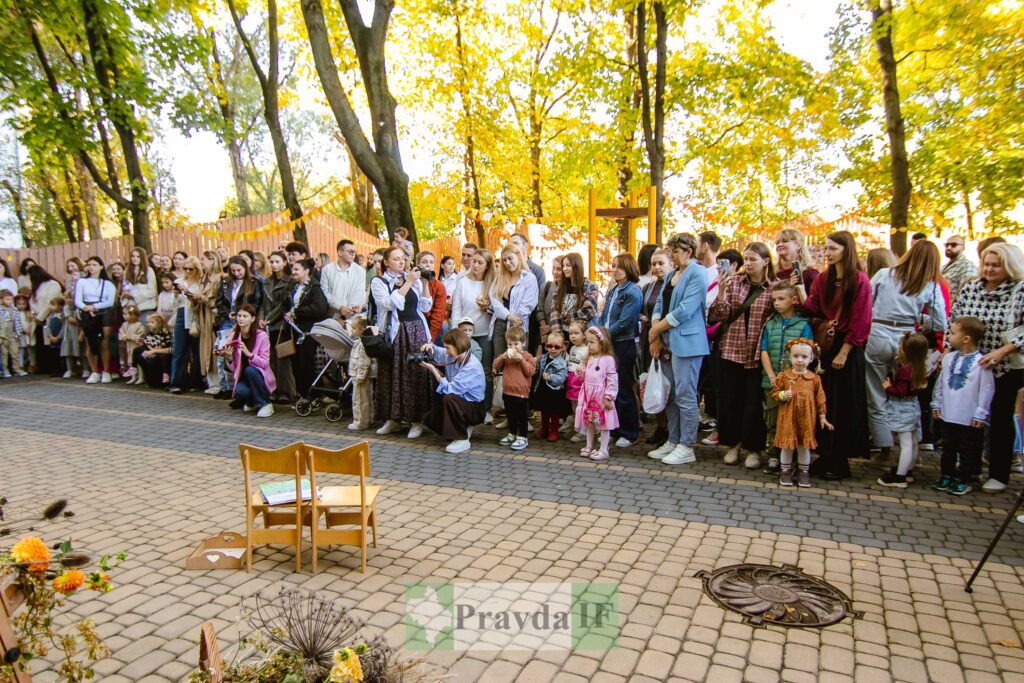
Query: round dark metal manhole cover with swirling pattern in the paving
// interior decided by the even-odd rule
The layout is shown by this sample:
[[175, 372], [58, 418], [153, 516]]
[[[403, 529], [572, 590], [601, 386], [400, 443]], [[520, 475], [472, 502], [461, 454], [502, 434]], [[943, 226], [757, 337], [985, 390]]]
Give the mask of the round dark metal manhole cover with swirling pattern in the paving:
[[753, 626], [824, 627], [860, 616], [845, 593], [799, 567], [734, 564], [696, 575], [711, 599]]

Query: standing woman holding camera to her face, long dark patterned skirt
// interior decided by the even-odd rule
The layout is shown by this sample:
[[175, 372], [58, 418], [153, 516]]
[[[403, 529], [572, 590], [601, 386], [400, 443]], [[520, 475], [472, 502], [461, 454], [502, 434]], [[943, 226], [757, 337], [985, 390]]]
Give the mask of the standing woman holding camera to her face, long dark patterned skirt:
[[406, 272], [406, 250], [389, 247], [384, 252], [384, 274], [370, 283], [377, 329], [387, 334], [393, 345], [391, 362], [382, 359], [377, 368], [374, 405], [384, 416], [378, 434], [390, 434], [409, 422], [409, 438], [423, 434], [423, 416], [430, 410], [430, 373], [418, 362], [410, 362], [429, 338], [426, 313], [433, 297], [419, 268]]

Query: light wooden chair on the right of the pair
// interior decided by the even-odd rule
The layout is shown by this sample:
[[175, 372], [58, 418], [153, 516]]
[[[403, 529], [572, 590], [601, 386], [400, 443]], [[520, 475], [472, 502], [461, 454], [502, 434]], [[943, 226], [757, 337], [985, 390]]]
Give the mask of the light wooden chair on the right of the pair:
[[[366, 441], [341, 451], [328, 451], [313, 445], [306, 446], [309, 481], [315, 488], [317, 473], [349, 474], [359, 478], [357, 486], [325, 486], [321, 497], [312, 501], [312, 521], [310, 537], [313, 547], [313, 572], [316, 571], [318, 548], [332, 545], [358, 546], [360, 551], [359, 571], [367, 571], [367, 527], [373, 530], [374, 548], [377, 547], [377, 509], [375, 502], [380, 486], [368, 486], [370, 474], [370, 444]], [[349, 508], [339, 511], [339, 508]], [[351, 508], [357, 508], [352, 510]], [[327, 528], [319, 528], [319, 516], [324, 515]], [[357, 528], [339, 529], [338, 525]]]

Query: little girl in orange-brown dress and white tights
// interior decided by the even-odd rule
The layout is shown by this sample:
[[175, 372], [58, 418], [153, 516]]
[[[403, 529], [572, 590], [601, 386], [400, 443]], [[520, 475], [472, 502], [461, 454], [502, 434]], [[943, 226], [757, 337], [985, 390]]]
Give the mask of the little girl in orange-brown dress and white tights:
[[816, 427], [831, 429], [825, 419], [825, 392], [817, 373], [809, 370], [814, 361], [816, 349], [809, 339], [794, 339], [785, 345], [790, 354], [790, 368], [775, 376], [772, 392], [778, 399], [778, 420], [775, 424], [773, 445], [780, 449], [778, 482], [783, 486], [793, 485], [793, 452], [797, 452], [799, 472], [798, 483], [811, 485], [811, 449], [817, 446], [814, 439]]

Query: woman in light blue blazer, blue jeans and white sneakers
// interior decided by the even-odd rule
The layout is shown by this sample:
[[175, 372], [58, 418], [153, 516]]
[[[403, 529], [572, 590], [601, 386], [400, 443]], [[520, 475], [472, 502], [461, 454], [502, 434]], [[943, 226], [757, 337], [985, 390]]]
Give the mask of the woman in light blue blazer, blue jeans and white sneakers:
[[708, 355], [708, 270], [693, 260], [697, 240], [689, 232], [674, 234], [668, 247], [675, 269], [665, 276], [662, 296], [651, 314], [650, 353], [663, 360], [662, 372], [671, 385], [666, 408], [669, 440], [647, 455], [666, 465], [684, 465], [696, 460], [697, 377]]

